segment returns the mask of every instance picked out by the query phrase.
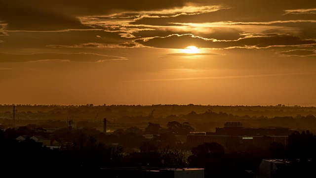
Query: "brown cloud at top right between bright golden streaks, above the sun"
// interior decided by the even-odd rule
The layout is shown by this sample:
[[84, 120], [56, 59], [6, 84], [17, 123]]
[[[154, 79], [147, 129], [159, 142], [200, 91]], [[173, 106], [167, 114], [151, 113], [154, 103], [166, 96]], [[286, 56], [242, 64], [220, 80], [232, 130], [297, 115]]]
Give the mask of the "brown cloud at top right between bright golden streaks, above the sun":
[[227, 7], [217, 11], [196, 15], [182, 14], [174, 17], [144, 17], [132, 24], [169, 26], [172, 23], [205, 23], [205, 22], [269, 22], [276, 20], [315, 20], [316, 14], [286, 14], [286, 9], [309, 9], [316, 7], [316, 2], [302, 0], [196, 0], [200, 5], [222, 5]]

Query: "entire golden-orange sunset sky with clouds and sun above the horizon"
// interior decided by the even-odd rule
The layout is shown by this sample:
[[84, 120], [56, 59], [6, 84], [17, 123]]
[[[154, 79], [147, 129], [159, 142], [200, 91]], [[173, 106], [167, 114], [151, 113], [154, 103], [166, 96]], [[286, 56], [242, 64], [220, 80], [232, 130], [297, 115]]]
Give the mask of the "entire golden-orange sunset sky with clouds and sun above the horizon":
[[0, 104], [316, 106], [315, 0], [1, 0]]

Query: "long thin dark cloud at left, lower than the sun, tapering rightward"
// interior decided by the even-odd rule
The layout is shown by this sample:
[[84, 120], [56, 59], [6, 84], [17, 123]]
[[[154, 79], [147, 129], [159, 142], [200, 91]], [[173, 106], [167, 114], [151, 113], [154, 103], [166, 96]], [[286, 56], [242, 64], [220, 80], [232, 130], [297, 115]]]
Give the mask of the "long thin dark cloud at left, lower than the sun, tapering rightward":
[[0, 53], [0, 63], [2, 62], [36, 62], [61, 60], [65, 62], [103, 62], [111, 60], [127, 60], [125, 57], [107, 56], [93, 53], [37, 53], [37, 54], [9, 54]]

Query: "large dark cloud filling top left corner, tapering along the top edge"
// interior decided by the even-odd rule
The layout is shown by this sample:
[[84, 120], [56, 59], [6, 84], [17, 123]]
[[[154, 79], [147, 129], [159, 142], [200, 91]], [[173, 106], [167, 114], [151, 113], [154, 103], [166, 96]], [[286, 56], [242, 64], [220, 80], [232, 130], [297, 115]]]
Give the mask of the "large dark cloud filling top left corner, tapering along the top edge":
[[1, 0], [0, 20], [7, 30], [56, 31], [89, 29], [79, 16], [106, 15], [119, 11], [171, 8], [183, 0]]

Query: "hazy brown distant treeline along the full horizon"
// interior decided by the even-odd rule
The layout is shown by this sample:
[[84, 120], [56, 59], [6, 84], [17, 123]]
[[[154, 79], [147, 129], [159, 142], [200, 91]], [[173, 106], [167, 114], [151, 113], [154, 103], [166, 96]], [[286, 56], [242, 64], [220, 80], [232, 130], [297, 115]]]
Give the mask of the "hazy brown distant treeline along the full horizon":
[[[78, 128], [102, 128], [103, 118], [109, 126], [117, 128], [137, 126], [144, 129], [147, 123], [166, 125], [168, 122], [189, 122], [197, 132], [210, 132], [223, 127], [225, 122], [241, 122], [244, 127], [286, 127], [297, 131], [316, 132], [315, 107], [286, 106], [16, 106], [16, 119], [12, 123], [13, 107], [0, 106], [2, 129], [28, 124], [42, 128], [67, 127], [71, 117]], [[11, 109], [11, 110], [9, 110]], [[1, 119], [2, 118], [2, 119]], [[118, 127], [119, 126], [119, 127]], [[114, 127], [113, 125], [110, 127]], [[115, 128], [115, 127], [114, 127]], [[116, 129], [113, 129], [116, 130]]]

